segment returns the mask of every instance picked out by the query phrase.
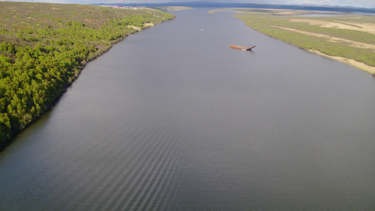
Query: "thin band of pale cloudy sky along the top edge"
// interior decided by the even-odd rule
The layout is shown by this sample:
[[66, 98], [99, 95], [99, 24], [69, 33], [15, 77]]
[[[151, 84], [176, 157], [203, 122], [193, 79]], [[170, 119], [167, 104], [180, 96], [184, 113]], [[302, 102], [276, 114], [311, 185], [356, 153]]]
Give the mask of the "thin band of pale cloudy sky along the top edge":
[[[4, 0], [0, 0], [4, 1]], [[375, 0], [7, 0], [10, 2], [49, 2], [49, 3], [165, 3], [165, 2], [220, 2], [220, 3], [259, 3], [259, 4], [314, 4], [331, 6], [353, 6], [360, 8], [375, 8]]]

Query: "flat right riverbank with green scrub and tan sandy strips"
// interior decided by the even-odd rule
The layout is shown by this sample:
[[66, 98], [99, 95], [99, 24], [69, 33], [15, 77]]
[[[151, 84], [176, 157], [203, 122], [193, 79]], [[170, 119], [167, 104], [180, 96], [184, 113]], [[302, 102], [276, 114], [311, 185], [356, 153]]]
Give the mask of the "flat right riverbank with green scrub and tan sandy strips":
[[[375, 17], [277, 9], [228, 9], [246, 26], [375, 75]], [[213, 10], [210, 13], [223, 11]], [[300, 16], [303, 15], [303, 16]]]

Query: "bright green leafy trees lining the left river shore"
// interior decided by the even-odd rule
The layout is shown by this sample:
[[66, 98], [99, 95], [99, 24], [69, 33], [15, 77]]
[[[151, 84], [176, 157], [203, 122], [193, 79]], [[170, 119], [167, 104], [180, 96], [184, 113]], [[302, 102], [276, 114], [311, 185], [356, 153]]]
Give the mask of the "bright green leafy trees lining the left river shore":
[[[0, 143], [40, 116], [78, 76], [87, 61], [137, 32], [130, 26], [175, 18], [169, 13], [129, 14], [98, 27], [66, 21], [58, 27], [0, 28]], [[13, 29], [14, 31], [14, 29]], [[9, 39], [12, 38], [12, 39]], [[0, 37], [1, 38], [1, 37]]]

